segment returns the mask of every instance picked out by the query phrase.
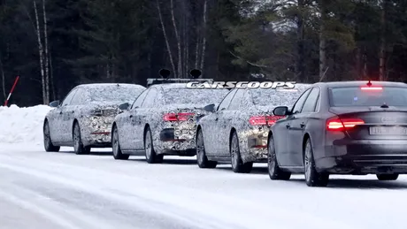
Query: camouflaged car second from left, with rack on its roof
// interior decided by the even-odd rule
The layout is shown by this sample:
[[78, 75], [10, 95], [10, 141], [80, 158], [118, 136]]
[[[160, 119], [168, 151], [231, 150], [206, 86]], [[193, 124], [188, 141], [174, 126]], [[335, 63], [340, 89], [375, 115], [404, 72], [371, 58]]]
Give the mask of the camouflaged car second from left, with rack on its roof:
[[204, 107], [219, 103], [227, 89], [187, 88], [185, 83], [153, 85], [114, 121], [113, 156], [145, 155], [160, 163], [164, 155], [196, 155], [196, 119], [211, 113]]

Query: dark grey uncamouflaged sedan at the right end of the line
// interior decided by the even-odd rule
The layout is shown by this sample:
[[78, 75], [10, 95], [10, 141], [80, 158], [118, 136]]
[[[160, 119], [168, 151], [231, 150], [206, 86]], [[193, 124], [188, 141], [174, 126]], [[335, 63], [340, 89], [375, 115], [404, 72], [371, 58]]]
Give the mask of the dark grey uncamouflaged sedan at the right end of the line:
[[407, 173], [407, 85], [397, 82], [317, 83], [271, 128], [271, 179], [304, 173], [310, 187], [329, 174], [376, 174], [395, 180]]

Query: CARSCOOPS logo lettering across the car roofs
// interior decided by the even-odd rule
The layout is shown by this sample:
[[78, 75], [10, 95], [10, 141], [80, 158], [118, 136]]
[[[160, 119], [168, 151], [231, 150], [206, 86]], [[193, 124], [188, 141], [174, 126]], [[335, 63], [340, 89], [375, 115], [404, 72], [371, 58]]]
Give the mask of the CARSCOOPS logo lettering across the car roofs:
[[296, 88], [296, 82], [280, 82], [280, 81], [214, 81], [214, 82], [200, 82], [190, 81], [187, 83], [187, 88]]

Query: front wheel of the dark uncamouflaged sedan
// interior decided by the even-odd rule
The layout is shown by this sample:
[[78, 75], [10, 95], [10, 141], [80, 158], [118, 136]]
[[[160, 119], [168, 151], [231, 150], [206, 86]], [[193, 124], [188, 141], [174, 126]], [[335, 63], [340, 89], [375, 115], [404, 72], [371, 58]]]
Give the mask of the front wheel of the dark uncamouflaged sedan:
[[270, 179], [288, 180], [291, 177], [291, 172], [282, 171], [279, 167], [275, 153], [273, 135], [269, 137], [267, 151], [268, 175]]

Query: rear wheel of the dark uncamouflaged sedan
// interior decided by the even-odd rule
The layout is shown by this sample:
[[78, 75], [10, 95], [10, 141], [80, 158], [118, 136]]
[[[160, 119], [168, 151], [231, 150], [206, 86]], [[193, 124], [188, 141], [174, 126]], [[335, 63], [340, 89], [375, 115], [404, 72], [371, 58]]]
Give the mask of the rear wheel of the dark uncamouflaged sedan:
[[312, 150], [311, 139], [305, 144], [303, 167], [305, 173], [305, 182], [309, 187], [326, 187], [329, 181], [329, 173], [317, 172]]

